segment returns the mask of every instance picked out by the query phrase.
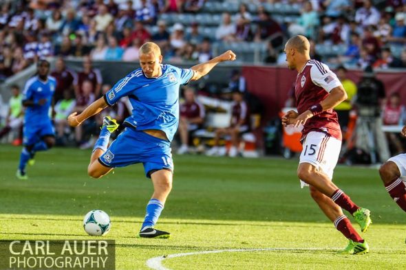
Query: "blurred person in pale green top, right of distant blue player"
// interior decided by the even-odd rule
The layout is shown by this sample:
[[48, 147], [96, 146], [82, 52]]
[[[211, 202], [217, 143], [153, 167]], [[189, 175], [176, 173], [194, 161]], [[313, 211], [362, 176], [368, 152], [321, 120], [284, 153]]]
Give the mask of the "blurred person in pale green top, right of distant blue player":
[[56, 144], [65, 145], [65, 134], [70, 133], [70, 126], [67, 124], [67, 117], [72, 113], [76, 106], [76, 101], [73, 98], [72, 91], [65, 89], [63, 98], [55, 104], [55, 129], [56, 129]]

